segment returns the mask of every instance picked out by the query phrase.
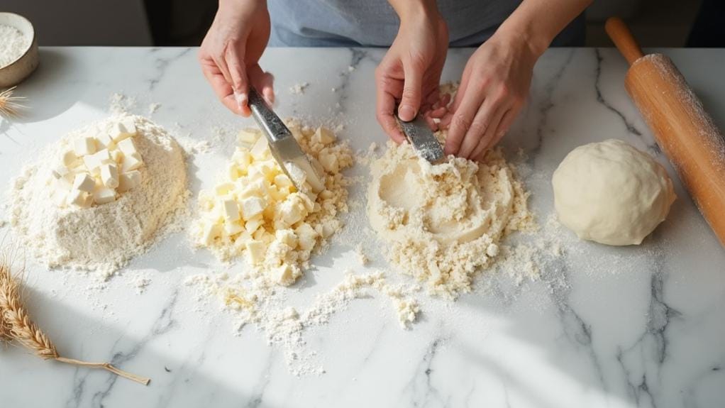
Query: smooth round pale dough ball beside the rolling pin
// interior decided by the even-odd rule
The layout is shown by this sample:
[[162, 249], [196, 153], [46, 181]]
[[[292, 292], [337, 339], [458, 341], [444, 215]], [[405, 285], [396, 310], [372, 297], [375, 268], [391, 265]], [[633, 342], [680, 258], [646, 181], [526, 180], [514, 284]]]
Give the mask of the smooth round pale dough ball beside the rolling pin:
[[608, 245], [642, 243], [676, 198], [664, 167], [616, 139], [573, 149], [552, 184], [559, 220], [579, 238]]

